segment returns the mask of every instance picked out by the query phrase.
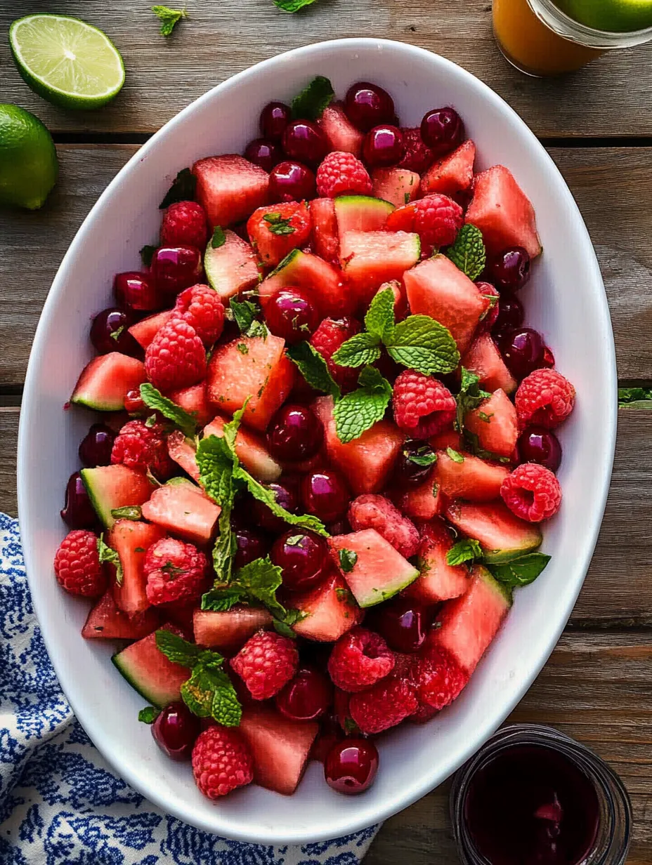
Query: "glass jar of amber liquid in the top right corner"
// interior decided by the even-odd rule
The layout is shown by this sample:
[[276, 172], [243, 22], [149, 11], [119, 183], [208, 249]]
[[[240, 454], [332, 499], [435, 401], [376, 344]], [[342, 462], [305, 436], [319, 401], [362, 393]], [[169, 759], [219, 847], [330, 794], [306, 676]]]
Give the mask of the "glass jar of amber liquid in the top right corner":
[[652, 40], [652, 27], [629, 33], [587, 27], [552, 0], [494, 0], [493, 20], [507, 61], [535, 76], [573, 72], [605, 51]]

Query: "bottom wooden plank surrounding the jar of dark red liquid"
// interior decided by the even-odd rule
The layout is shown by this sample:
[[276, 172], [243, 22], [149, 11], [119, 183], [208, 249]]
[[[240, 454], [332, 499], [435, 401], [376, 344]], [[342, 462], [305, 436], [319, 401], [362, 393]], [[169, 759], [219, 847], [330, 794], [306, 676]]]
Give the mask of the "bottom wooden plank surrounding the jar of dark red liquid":
[[[566, 632], [509, 721], [556, 727], [591, 747], [618, 772], [634, 810], [629, 865], [652, 849], [652, 632]], [[449, 783], [380, 830], [365, 865], [456, 865]]]

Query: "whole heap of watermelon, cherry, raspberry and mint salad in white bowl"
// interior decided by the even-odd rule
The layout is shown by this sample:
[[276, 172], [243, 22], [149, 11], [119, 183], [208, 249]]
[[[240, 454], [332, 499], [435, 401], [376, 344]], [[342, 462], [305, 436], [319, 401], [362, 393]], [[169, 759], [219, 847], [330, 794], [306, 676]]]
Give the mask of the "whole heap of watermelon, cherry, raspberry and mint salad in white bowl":
[[550, 558], [575, 400], [524, 324], [533, 206], [454, 108], [318, 77], [260, 129], [178, 172], [94, 317], [55, 557], [213, 799], [311, 759], [365, 791], [436, 725]]

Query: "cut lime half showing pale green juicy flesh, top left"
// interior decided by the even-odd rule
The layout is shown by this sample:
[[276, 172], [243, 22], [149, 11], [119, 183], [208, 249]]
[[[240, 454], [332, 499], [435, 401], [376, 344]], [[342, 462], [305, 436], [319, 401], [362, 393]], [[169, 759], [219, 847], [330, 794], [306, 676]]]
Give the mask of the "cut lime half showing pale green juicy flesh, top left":
[[23, 79], [56, 106], [99, 108], [125, 83], [125, 67], [113, 42], [78, 18], [18, 18], [9, 39]]

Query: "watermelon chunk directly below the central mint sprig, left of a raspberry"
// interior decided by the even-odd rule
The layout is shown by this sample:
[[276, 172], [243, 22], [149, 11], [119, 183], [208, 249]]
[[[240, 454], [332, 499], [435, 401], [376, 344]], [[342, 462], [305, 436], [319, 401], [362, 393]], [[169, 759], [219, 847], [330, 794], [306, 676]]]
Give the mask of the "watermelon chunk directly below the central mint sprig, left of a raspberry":
[[342, 471], [353, 492], [359, 495], [381, 490], [403, 445], [403, 432], [391, 420], [378, 420], [358, 439], [343, 445], [332, 417], [332, 396], [318, 397], [312, 407], [324, 425], [328, 458]]

